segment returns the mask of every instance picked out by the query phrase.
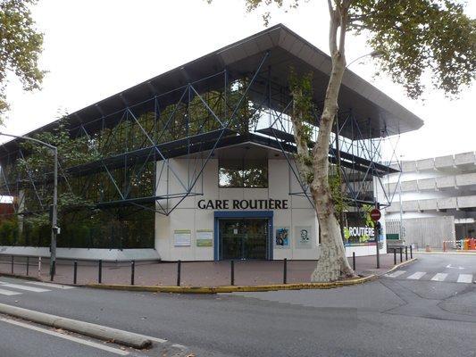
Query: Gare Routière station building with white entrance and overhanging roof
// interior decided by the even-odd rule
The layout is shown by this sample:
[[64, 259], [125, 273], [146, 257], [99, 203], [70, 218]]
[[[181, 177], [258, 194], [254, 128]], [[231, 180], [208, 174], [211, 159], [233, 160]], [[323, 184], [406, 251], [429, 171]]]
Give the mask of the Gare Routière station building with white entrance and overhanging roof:
[[[315, 112], [307, 122], [313, 145], [331, 61], [283, 25], [69, 115], [71, 133], [88, 136], [91, 143], [105, 149], [99, 160], [63, 168], [71, 172], [70, 180], [80, 180], [74, 185], [60, 180], [60, 192], [86, 185], [88, 190], [73, 193], [94, 200], [101, 214], [112, 212], [113, 222], [104, 219], [109, 217], [105, 213], [92, 220], [87, 212], [81, 221], [75, 213], [73, 226], [80, 230], [62, 227], [58, 256], [163, 261], [318, 259], [319, 225], [308, 187], [294, 163], [288, 88], [292, 68], [299, 74], [313, 74]], [[338, 135], [332, 136], [329, 160], [334, 170], [340, 163], [354, 204], [350, 210], [354, 212], [346, 218], [350, 226], [347, 254], [373, 254], [374, 230], [355, 207], [376, 204], [372, 179], [397, 172], [379, 163], [376, 142], [419, 129], [422, 120], [348, 70], [339, 108]], [[44, 185], [39, 194], [51, 192], [47, 179], [51, 175], [46, 172], [32, 185], [29, 177], [15, 170], [9, 174], [21, 157], [19, 149], [18, 140], [4, 145], [2, 192], [15, 196], [15, 212], [28, 217], [27, 213], [35, 213], [34, 207], [39, 212], [44, 209], [37, 202], [42, 198], [37, 187]], [[12, 182], [19, 178], [21, 185]], [[21, 197], [29, 202], [23, 203]], [[144, 210], [139, 223], [134, 210]], [[39, 241], [45, 246], [47, 228], [33, 233], [22, 242]], [[4, 253], [48, 254], [47, 248], [33, 246], [2, 249]]]

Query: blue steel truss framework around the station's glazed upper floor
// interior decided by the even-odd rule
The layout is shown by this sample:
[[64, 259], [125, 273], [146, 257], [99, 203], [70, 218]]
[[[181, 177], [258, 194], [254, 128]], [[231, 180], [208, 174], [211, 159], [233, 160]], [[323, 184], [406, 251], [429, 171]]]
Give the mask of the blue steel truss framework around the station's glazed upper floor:
[[[289, 175], [296, 180], [299, 187], [297, 192], [289, 187], [289, 195], [305, 196], [313, 205], [309, 187], [296, 169], [296, 145], [288, 119], [292, 102], [289, 100], [288, 89], [271, 81], [271, 66], [265, 67], [268, 57], [269, 53], [263, 55], [253, 73], [232, 75], [224, 69], [213, 76], [187, 83], [160, 95], [157, 94], [157, 89], [152, 87], [154, 96], [138, 104], [130, 104], [128, 98], [122, 96], [125, 108], [106, 116], [101, 106], [96, 105], [100, 117], [94, 121], [95, 129], [88, 129], [91, 123], [81, 123], [79, 127], [71, 129], [71, 136], [75, 133], [75, 137], [87, 137], [90, 152], [97, 160], [75, 167], [61, 167], [63, 192], [79, 196], [98, 192], [98, 208], [133, 205], [169, 215], [187, 197], [203, 195], [203, 172], [217, 148], [231, 142], [238, 143], [239, 140], [245, 140], [246, 135], [251, 136], [252, 132], [256, 132], [257, 137], [253, 134], [255, 139], [263, 135], [268, 137], [272, 141], [270, 144], [280, 149], [288, 162]], [[222, 77], [223, 87], [207, 88], [207, 79], [217, 76]], [[161, 101], [171, 94], [176, 95], [178, 101], [162, 108]], [[248, 106], [250, 101], [253, 101], [255, 106], [247, 119], [258, 116], [259, 120], [255, 121], [253, 128], [248, 128], [248, 134], [240, 133], [234, 129], [239, 120], [238, 112]], [[200, 118], [194, 118], [194, 115], [198, 114], [194, 114], [192, 105], [193, 108], [200, 109]], [[148, 108], [146, 114], [144, 108]], [[319, 109], [315, 108], [315, 121], [309, 123], [313, 126], [313, 140], [317, 137], [320, 115]], [[368, 138], [372, 136], [364, 135], [362, 121], [358, 121], [351, 111], [340, 112], [339, 115], [344, 117], [337, 128], [340, 146], [337, 150], [336, 136], [333, 136], [330, 162], [339, 163], [347, 197], [355, 205], [360, 205], [367, 203], [363, 198], [372, 192], [372, 178], [379, 178], [381, 185], [380, 176], [385, 170], [390, 170], [380, 162], [383, 138], [372, 139]], [[268, 120], [269, 129], [266, 133], [263, 132], [265, 118]], [[100, 132], [96, 130], [98, 123], [101, 124]], [[342, 136], [343, 131], [352, 132], [352, 139]], [[182, 137], [174, 137], [175, 132], [184, 134]], [[12, 161], [12, 156], [7, 156], [7, 161], [0, 158], [0, 162], [5, 166], [3, 169], [14, 164], [15, 159]], [[20, 151], [20, 156], [16, 156], [16, 159], [24, 157]], [[186, 174], [179, 172], [174, 166], [172, 159], [175, 157], [188, 159]], [[38, 200], [39, 211], [45, 210], [44, 198], [40, 195], [38, 185], [41, 184], [43, 191], [47, 191], [51, 173], [45, 172], [41, 183], [30, 170], [27, 170], [27, 173], [27, 178], [17, 175], [13, 182], [12, 177], [2, 170], [0, 180], [3, 182], [0, 182], [0, 187], [4, 187], [7, 195], [18, 197], [21, 187], [25, 188], [23, 181], [26, 179], [27, 186]], [[147, 187], [146, 192], [137, 193], [138, 182], [145, 176], [150, 177], [151, 187]], [[73, 187], [70, 180], [80, 182], [80, 187]], [[172, 180], [177, 183], [175, 189], [171, 187]], [[385, 198], [391, 202], [394, 195], [395, 192]], [[23, 203], [17, 200], [15, 212], [18, 212]], [[151, 207], [151, 204], [154, 207]]]

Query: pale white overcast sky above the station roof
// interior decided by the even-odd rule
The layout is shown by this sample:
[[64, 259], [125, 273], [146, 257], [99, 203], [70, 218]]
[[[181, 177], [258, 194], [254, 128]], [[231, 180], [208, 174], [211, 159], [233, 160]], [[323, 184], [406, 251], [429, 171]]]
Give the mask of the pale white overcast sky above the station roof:
[[[13, 76], [5, 133], [22, 135], [164, 71], [264, 29], [260, 12], [246, 13], [244, 0], [39, 0], [33, 8], [45, 34], [41, 67], [48, 71], [41, 91], [26, 93]], [[274, 9], [270, 25], [283, 23], [329, 53], [329, 13], [323, 0], [294, 11]], [[476, 1], [466, 13], [476, 17]], [[364, 37], [349, 35], [347, 63], [372, 51]], [[374, 78], [372, 59], [349, 69], [370, 81], [425, 121], [401, 135], [397, 155], [417, 160], [476, 151], [476, 83], [457, 100], [429, 90], [411, 100], [386, 77]], [[7, 141], [1, 138], [0, 142]], [[394, 140], [397, 141], [397, 140]]]

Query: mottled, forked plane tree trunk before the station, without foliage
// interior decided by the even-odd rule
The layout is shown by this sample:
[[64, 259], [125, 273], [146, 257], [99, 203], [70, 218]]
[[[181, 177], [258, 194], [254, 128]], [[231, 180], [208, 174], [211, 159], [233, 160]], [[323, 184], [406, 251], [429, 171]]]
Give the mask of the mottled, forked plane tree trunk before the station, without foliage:
[[344, 71], [346, 71], [344, 46], [350, 0], [338, 3], [332, 5], [331, 0], [328, 3], [332, 70], [319, 124], [317, 143], [312, 152], [309, 150], [309, 137], [306, 135], [303, 91], [298, 86], [291, 88], [294, 100], [291, 120], [296, 137], [296, 165], [301, 179], [310, 187], [321, 233], [321, 255], [311, 277], [313, 281], [334, 281], [355, 276], [347, 261], [328, 179], [330, 133], [334, 118], [338, 114], [338, 92]]

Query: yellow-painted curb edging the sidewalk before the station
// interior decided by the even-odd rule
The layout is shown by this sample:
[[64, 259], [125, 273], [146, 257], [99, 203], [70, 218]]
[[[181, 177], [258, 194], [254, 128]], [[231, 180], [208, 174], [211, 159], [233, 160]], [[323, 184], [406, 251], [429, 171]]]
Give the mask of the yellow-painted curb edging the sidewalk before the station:
[[372, 274], [363, 278], [352, 278], [330, 283], [297, 283], [297, 284], [271, 284], [256, 286], [138, 286], [121, 284], [87, 284], [84, 286], [108, 290], [148, 291], [154, 293], [172, 294], [219, 294], [238, 292], [265, 292], [277, 290], [305, 290], [305, 289], [331, 289], [340, 286], [363, 284], [377, 278]]

